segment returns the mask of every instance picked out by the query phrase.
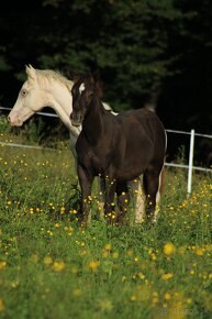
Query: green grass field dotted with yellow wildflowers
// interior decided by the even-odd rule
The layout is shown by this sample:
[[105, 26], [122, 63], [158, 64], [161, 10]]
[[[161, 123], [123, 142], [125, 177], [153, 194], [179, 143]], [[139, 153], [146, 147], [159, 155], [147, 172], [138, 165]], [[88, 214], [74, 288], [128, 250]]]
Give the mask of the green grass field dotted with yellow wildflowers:
[[93, 194], [85, 231], [69, 151], [0, 150], [0, 318], [212, 318], [211, 175], [187, 198], [186, 172], [166, 169], [152, 229], [99, 221]]

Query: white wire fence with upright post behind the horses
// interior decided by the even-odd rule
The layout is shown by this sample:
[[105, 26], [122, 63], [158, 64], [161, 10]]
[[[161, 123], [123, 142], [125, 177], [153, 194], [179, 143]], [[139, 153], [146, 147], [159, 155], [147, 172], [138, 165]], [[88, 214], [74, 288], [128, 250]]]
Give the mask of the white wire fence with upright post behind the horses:
[[[0, 107], [0, 110], [10, 111], [10, 109], [3, 108], [3, 107]], [[40, 114], [40, 116], [43, 116], [43, 117], [58, 118], [57, 114], [48, 113], [48, 112], [36, 112], [36, 114]], [[188, 196], [189, 196], [191, 194], [191, 186], [192, 186], [192, 172], [193, 170], [201, 170], [201, 172], [212, 173], [212, 168], [207, 168], [207, 167], [201, 167], [201, 166], [194, 166], [193, 165], [194, 139], [196, 139], [196, 136], [212, 139], [212, 135], [197, 133], [193, 129], [190, 132], [166, 129], [166, 132], [167, 133], [174, 133], [174, 134], [190, 135], [189, 162], [188, 162], [188, 164], [178, 164], [178, 163], [165, 162], [165, 166], [188, 169], [187, 193], [188, 193]], [[23, 145], [23, 144], [5, 143], [5, 142], [0, 142], [0, 144], [1, 145], [7, 145], [7, 146], [12, 146], [12, 147], [58, 151], [58, 150], [55, 150], [55, 148], [42, 147], [42, 146], [35, 146], [35, 145]]]

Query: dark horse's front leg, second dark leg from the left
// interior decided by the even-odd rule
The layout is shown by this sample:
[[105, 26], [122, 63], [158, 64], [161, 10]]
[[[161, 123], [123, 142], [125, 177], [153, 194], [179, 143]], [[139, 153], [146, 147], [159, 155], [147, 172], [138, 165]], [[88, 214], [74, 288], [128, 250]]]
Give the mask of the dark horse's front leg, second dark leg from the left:
[[104, 216], [108, 218], [110, 224], [114, 220], [114, 195], [116, 183], [108, 180], [105, 185], [105, 201], [104, 201]]

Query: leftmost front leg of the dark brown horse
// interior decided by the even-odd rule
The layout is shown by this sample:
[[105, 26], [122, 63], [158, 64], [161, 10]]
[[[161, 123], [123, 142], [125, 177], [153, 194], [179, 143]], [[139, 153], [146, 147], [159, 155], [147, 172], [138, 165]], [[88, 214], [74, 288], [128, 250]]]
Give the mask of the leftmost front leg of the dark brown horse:
[[88, 226], [91, 220], [91, 190], [94, 176], [88, 170], [85, 170], [80, 165], [77, 167], [79, 184], [81, 187], [81, 207], [80, 207], [80, 223]]

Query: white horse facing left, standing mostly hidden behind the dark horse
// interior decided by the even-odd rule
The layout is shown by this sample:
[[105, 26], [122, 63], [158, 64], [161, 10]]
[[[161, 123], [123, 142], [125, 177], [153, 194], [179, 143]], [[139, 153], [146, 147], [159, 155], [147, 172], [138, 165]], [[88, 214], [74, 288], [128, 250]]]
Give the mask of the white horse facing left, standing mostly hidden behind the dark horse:
[[[71, 88], [74, 82], [63, 76], [60, 73], [49, 69], [35, 69], [31, 65], [25, 67], [27, 79], [24, 81], [15, 105], [8, 116], [9, 123], [12, 127], [21, 127], [34, 113], [41, 111], [45, 107], [55, 110], [59, 119], [69, 130], [70, 150], [75, 160], [77, 154], [75, 144], [81, 132], [81, 127], [72, 127], [70, 113], [72, 112]], [[104, 108], [115, 112], [104, 103]], [[104, 186], [100, 178], [100, 190], [103, 196]], [[142, 222], [144, 213], [144, 197], [140, 180], [131, 183], [131, 187], [135, 190], [135, 222]], [[103, 205], [103, 198], [100, 199]], [[101, 205], [100, 205], [101, 206]], [[103, 213], [103, 209], [101, 209]]]

